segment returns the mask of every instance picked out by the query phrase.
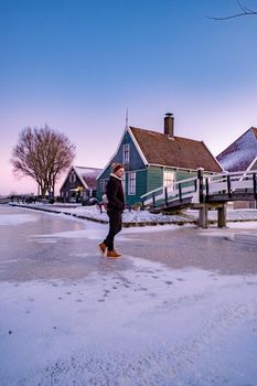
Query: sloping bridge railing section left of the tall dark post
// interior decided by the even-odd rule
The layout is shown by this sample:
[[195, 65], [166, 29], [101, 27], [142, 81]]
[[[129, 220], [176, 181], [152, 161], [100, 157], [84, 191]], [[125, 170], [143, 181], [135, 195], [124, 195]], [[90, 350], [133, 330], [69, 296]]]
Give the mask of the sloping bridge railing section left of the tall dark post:
[[151, 192], [141, 195], [144, 206], [168, 206], [174, 201], [182, 203], [185, 199], [194, 199], [199, 196], [197, 178], [190, 178], [178, 181], [169, 186], [160, 186]]

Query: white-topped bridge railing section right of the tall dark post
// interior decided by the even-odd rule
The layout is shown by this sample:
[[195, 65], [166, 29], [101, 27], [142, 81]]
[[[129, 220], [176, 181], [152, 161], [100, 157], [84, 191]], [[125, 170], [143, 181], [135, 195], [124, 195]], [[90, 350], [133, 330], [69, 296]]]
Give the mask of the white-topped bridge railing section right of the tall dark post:
[[204, 183], [204, 194], [253, 193], [256, 196], [257, 170], [221, 173], [207, 178]]

